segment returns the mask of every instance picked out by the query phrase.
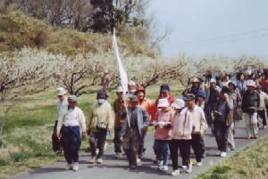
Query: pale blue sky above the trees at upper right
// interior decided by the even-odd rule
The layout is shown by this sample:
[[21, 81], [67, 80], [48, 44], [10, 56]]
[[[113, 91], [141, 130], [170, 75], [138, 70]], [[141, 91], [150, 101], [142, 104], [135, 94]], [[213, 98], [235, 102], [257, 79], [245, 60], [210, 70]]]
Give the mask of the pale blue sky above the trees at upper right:
[[268, 0], [151, 0], [163, 56], [254, 55], [268, 60]]

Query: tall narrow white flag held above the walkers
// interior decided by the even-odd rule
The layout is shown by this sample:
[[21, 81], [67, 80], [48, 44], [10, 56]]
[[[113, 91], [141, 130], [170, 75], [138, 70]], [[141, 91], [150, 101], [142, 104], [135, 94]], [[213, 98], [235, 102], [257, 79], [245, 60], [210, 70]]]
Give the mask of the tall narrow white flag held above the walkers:
[[115, 37], [115, 29], [113, 29], [113, 49], [115, 53], [115, 57], [117, 60], [117, 67], [120, 73], [120, 78], [121, 78], [121, 86], [123, 89], [123, 93], [126, 94], [128, 91], [128, 75], [126, 70], [124, 69], [122, 63], [121, 63], [121, 58], [119, 55], [119, 50], [118, 50], [118, 45], [117, 45], [117, 40]]

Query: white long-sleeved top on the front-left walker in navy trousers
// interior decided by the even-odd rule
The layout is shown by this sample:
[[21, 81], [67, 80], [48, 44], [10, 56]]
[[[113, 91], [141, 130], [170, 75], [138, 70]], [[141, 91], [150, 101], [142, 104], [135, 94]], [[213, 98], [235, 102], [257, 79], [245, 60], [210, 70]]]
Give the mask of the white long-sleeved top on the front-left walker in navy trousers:
[[75, 107], [63, 113], [59, 118], [57, 131], [60, 131], [62, 126], [80, 126], [82, 132], [86, 132], [86, 118], [83, 111]]

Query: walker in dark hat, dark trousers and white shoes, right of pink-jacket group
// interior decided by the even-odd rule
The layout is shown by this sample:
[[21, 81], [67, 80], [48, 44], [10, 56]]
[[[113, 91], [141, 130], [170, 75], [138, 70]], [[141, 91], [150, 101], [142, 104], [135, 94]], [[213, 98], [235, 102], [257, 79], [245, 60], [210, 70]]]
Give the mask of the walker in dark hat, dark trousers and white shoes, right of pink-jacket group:
[[221, 97], [216, 102], [214, 110], [214, 135], [218, 145], [219, 155], [221, 157], [227, 156], [227, 143], [229, 128], [232, 123], [229, 115], [233, 109], [233, 100], [230, 99], [229, 88], [227, 86], [222, 87]]

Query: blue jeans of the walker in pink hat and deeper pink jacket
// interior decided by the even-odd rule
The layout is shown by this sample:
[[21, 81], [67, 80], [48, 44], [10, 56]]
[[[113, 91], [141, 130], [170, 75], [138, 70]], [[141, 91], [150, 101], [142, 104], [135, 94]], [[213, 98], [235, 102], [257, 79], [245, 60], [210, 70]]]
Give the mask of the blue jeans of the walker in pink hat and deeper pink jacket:
[[163, 166], [167, 166], [167, 160], [169, 156], [169, 141], [155, 139], [153, 148], [155, 151], [156, 159], [163, 161]]

